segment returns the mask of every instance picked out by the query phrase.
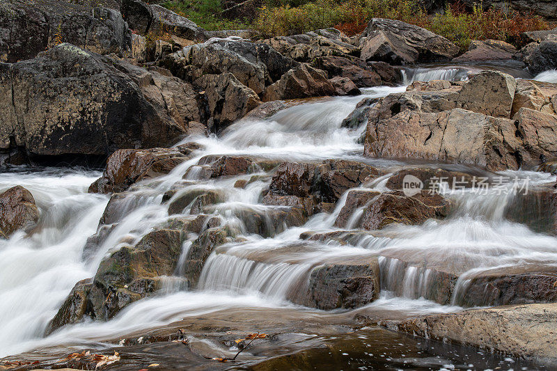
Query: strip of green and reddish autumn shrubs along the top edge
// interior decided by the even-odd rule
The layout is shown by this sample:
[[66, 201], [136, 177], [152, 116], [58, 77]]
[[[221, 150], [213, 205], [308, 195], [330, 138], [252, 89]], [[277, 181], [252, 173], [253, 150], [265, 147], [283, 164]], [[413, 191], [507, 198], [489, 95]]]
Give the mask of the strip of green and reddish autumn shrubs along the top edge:
[[475, 6], [447, 6], [442, 15], [427, 15], [417, 0], [263, 0], [254, 9], [253, 24], [242, 19], [228, 20], [221, 16], [220, 0], [169, 0], [163, 5], [196, 22], [205, 29], [255, 28], [265, 36], [292, 35], [315, 29], [336, 27], [347, 35], [363, 31], [372, 17], [399, 19], [443, 35], [462, 49], [471, 40], [487, 38], [520, 44], [524, 31], [549, 29], [538, 16], [515, 11], [482, 10]]

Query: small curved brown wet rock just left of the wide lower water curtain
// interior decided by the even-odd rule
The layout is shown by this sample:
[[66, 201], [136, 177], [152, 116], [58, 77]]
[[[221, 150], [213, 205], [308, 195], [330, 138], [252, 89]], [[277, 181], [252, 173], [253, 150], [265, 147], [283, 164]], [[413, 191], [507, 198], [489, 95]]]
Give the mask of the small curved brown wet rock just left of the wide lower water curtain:
[[186, 256], [184, 271], [192, 287], [196, 287], [203, 265], [214, 248], [228, 241], [226, 236], [226, 232], [221, 228], [210, 228], [201, 233], [191, 244]]

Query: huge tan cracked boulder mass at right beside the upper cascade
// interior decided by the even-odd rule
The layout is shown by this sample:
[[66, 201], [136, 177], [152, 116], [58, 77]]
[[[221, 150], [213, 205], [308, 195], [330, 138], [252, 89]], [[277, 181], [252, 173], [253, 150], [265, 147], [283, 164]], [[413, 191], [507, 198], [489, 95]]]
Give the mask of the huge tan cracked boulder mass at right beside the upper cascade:
[[[520, 84], [502, 72], [481, 72], [468, 82], [413, 84], [406, 93], [389, 95], [375, 106], [367, 104], [367, 109], [360, 108], [365, 113], [354, 116], [368, 120], [364, 152], [489, 170], [536, 166], [540, 159], [556, 154], [550, 144], [555, 125], [551, 88], [544, 87], [543, 92], [540, 88], [543, 102], [534, 105], [535, 93], [528, 93], [526, 83]], [[515, 100], [517, 91], [519, 100]], [[540, 111], [520, 107], [519, 102]]]

